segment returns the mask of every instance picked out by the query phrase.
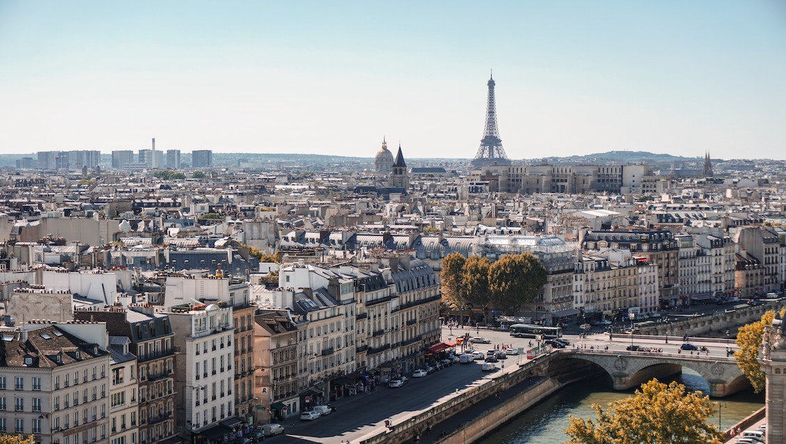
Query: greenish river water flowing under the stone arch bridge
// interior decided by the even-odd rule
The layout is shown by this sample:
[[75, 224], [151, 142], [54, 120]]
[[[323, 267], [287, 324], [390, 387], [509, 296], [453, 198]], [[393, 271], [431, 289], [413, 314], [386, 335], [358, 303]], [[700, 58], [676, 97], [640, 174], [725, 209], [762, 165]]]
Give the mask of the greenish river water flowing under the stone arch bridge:
[[[685, 369], [681, 376], [662, 382], [677, 380], [685, 384], [689, 390], [709, 392], [707, 381], [698, 373]], [[490, 433], [479, 442], [482, 444], [559, 444], [567, 441], [565, 429], [569, 421], [568, 415], [594, 418], [593, 404], [606, 407], [609, 402], [630, 396], [634, 391], [614, 391], [612, 381], [604, 383], [582, 381], [572, 384], [554, 394], [545, 402], [535, 405], [508, 424]], [[714, 400], [721, 402], [721, 426], [725, 430], [764, 406], [764, 394], [754, 394], [752, 389], [741, 391], [727, 398]], [[707, 419], [710, 424], [718, 425], [718, 414]]]

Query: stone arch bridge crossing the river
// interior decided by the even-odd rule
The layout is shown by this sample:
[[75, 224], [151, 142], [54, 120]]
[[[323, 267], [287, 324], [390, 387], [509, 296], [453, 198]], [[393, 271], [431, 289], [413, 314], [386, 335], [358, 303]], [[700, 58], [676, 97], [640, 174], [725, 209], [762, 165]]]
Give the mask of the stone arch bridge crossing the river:
[[614, 380], [615, 390], [638, 387], [652, 378], [680, 374], [683, 367], [699, 373], [710, 385], [710, 396], [722, 398], [749, 387], [735, 358], [702, 355], [650, 353], [640, 351], [564, 349], [552, 353], [549, 374], [570, 368], [571, 362], [589, 361], [600, 366]]

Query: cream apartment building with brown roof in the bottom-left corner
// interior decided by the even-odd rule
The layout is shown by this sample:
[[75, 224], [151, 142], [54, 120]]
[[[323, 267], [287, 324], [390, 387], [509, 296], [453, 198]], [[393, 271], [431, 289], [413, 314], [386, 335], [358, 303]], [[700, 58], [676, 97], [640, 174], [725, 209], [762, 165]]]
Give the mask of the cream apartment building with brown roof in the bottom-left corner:
[[41, 444], [108, 444], [104, 325], [38, 321], [0, 334], [0, 433], [34, 435]]

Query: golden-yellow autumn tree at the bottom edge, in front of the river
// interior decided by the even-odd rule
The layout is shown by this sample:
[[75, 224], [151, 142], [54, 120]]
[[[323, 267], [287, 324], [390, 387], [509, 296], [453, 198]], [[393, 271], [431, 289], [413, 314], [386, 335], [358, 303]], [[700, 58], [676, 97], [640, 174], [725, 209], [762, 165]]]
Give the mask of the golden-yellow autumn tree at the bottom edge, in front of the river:
[[570, 417], [570, 435], [564, 444], [720, 444], [722, 432], [707, 417], [714, 413], [714, 402], [701, 392], [685, 393], [685, 386], [658, 380], [641, 385], [634, 396], [620, 399], [603, 409], [593, 404], [596, 417], [583, 420]]

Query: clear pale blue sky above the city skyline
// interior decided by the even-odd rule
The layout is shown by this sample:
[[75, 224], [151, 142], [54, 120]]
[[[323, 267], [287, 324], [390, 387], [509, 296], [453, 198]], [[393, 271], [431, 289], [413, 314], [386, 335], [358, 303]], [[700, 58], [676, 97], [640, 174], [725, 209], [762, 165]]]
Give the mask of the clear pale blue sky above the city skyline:
[[786, 159], [786, 2], [0, 1], [0, 152]]

